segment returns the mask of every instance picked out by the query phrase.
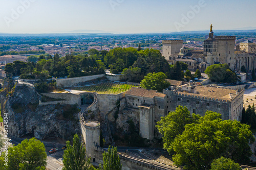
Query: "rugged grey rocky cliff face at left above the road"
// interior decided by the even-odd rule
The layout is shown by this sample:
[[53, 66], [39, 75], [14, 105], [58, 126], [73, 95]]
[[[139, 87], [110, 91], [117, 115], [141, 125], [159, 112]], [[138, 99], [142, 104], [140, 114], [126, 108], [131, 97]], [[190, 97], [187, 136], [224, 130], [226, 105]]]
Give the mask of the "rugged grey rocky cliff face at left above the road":
[[74, 134], [81, 133], [77, 114], [72, 120], [63, 118], [65, 105], [38, 106], [41, 96], [26, 85], [17, 85], [11, 93], [7, 92], [1, 93], [1, 101], [5, 101], [2, 112], [8, 113], [9, 134], [71, 140]]

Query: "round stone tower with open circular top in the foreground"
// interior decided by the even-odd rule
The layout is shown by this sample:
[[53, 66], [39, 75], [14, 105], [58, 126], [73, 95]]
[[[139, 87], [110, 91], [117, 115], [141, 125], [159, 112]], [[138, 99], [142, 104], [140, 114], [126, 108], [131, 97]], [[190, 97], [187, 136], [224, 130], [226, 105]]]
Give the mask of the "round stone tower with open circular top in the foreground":
[[100, 123], [96, 121], [84, 122], [84, 128], [86, 130], [85, 142], [87, 157], [94, 157], [94, 149], [99, 145], [99, 129]]

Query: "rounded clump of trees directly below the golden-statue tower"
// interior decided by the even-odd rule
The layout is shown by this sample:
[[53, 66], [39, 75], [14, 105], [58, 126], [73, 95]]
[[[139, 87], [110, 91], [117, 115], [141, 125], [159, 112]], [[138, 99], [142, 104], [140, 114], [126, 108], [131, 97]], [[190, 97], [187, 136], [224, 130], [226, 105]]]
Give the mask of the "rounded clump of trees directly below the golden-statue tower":
[[212, 82], [237, 83], [239, 77], [227, 64], [210, 65], [204, 71]]

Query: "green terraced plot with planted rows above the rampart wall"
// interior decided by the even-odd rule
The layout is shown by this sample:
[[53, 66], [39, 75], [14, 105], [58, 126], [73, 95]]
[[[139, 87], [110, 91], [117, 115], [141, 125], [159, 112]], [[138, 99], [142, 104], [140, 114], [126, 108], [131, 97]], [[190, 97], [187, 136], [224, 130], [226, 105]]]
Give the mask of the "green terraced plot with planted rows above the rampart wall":
[[102, 83], [92, 86], [75, 87], [72, 89], [81, 91], [97, 92], [100, 94], [118, 94], [131, 89], [132, 87], [138, 87], [130, 84], [116, 84], [116, 83]]

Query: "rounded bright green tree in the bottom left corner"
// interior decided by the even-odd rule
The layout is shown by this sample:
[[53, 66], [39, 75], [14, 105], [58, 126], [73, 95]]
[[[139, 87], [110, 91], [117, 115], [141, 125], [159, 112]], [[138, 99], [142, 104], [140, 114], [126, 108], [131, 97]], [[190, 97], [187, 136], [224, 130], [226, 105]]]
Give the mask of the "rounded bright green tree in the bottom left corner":
[[36, 138], [25, 139], [8, 150], [8, 168], [18, 169], [46, 169], [47, 155], [44, 143]]

